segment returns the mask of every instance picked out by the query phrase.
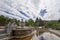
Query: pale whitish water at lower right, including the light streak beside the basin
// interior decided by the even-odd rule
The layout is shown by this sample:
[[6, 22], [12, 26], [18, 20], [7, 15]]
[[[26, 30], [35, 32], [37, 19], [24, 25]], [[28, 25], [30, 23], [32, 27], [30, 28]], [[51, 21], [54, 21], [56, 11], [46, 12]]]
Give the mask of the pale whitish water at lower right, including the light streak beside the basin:
[[49, 32], [44, 32], [42, 35], [37, 36], [35, 31], [31, 40], [60, 40], [60, 37]]

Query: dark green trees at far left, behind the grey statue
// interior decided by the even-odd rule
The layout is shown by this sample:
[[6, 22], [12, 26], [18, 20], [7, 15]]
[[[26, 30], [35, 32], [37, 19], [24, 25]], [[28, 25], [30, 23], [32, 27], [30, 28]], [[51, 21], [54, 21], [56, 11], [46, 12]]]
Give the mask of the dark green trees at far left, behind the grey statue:
[[12, 21], [15, 21], [16, 24], [19, 26], [19, 20], [17, 19], [11, 19], [11, 18], [8, 18], [8, 17], [5, 17], [3, 15], [0, 16], [0, 26], [5, 26], [7, 25], [9, 22], [12, 22]]

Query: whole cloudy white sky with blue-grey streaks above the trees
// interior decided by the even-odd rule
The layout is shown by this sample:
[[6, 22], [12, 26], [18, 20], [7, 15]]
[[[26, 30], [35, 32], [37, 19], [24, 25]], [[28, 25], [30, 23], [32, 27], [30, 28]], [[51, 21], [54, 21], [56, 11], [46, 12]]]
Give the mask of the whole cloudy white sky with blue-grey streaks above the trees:
[[17, 19], [60, 19], [60, 0], [0, 0], [0, 15]]

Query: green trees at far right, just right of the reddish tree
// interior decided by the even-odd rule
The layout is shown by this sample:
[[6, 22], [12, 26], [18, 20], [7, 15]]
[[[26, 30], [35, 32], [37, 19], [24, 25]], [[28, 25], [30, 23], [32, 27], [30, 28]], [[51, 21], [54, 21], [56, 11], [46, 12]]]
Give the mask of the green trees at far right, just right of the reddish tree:
[[45, 25], [46, 28], [60, 29], [60, 23], [58, 21], [48, 21]]

